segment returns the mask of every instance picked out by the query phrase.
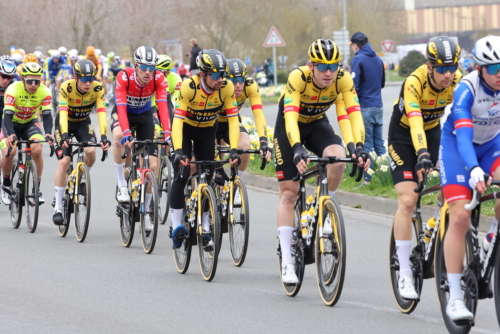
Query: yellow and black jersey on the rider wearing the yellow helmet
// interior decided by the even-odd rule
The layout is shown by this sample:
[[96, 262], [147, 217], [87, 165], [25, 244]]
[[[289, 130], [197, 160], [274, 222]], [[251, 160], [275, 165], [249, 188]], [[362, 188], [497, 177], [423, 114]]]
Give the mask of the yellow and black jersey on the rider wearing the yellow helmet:
[[344, 142], [364, 143], [363, 117], [349, 72], [339, 69], [335, 81], [320, 89], [314, 84], [309, 67], [301, 66], [288, 76], [281, 98], [284, 99], [286, 132], [292, 147], [300, 143], [298, 122], [310, 123], [323, 118], [334, 103]]

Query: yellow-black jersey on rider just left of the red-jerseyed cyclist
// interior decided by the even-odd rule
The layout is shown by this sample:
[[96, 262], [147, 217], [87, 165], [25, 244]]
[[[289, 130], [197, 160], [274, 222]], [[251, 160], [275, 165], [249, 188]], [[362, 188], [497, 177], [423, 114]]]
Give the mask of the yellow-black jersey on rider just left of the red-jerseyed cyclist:
[[97, 108], [101, 136], [107, 135], [108, 124], [104, 86], [100, 82], [94, 81], [90, 90], [87, 93], [82, 93], [78, 90], [75, 79], [65, 81], [61, 85], [59, 94], [59, 126], [61, 134], [68, 132], [68, 122], [81, 122], [89, 118], [94, 107]]

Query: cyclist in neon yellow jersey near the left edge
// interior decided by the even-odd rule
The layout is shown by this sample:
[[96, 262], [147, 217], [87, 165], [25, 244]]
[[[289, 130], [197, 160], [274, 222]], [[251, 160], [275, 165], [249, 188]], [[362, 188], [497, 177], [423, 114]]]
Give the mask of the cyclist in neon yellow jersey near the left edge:
[[[52, 113], [50, 90], [40, 85], [42, 68], [37, 63], [26, 63], [22, 68], [21, 81], [10, 85], [5, 91], [5, 107], [2, 132], [4, 138], [0, 141], [2, 150], [2, 202], [10, 204], [10, 172], [16, 156], [15, 142], [17, 138], [23, 140], [43, 140], [43, 132], [37, 118], [38, 109], [42, 110], [45, 138], [53, 140]], [[13, 147], [10, 157], [6, 157], [9, 147]], [[42, 179], [43, 157], [42, 144], [31, 145], [31, 154], [38, 170], [38, 183]], [[39, 203], [45, 203], [42, 192], [39, 194]]]

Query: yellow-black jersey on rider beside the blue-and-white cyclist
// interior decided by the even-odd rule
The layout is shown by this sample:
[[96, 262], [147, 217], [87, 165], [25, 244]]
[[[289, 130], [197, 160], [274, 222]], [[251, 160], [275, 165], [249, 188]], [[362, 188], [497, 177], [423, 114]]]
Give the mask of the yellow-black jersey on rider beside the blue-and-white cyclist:
[[401, 86], [399, 97], [394, 101], [391, 124], [410, 130], [415, 152], [427, 148], [425, 131], [439, 126], [444, 108], [453, 102], [453, 91], [461, 78], [462, 73], [457, 70], [451, 86], [438, 90], [432, 86], [424, 64]]

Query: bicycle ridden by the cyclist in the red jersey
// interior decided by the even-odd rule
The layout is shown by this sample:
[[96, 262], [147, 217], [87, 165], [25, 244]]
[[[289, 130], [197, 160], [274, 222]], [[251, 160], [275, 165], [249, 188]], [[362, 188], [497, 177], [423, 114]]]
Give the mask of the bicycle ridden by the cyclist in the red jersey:
[[[156, 244], [158, 232], [158, 181], [154, 172], [149, 168], [149, 145], [159, 145], [163, 141], [135, 140], [132, 146], [132, 164], [125, 169], [130, 201], [120, 203], [116, 207], [116, 215], [120, 218], [120, 236], [122, 244], [129, 247], [134, 239], [135, 223], [140, 222], [142, 248], [146, 254], [151, 254]], [[137, 145], [144, 145], [136, 150]], [[126, 159], [129, 149], [125, 149], [122, 159]], [[141, 159], [142, 158], [142, 159]], [[139, 168], [143, 162], [143, 167]], [[118, 188], [118, 187], [117, 187]], [[145, 207], [145, 195], [151, 190], [151, 202]], [[149, 216], [153, 224], [152, 231], [146, 231], [145, 219]]]

